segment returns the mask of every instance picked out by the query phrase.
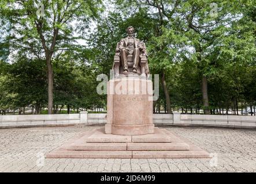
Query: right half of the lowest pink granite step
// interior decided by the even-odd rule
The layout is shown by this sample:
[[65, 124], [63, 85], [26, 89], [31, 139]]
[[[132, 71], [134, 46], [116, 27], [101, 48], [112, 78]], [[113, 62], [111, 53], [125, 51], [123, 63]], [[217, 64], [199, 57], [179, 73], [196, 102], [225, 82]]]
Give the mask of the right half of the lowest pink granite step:
[[135, 159], [210, 158], [206, 151], [132, 151]]

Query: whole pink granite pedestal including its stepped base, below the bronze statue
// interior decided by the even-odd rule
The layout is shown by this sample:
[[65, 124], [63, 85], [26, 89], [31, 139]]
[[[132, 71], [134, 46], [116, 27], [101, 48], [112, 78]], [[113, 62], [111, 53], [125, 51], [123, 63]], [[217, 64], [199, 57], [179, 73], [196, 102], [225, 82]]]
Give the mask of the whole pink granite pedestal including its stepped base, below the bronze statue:
[[152, 82], [138, 75], [108, 82], [107, 124], [47, 154], [47, 158], [210, 158], [208, 152], [154, 128]]

